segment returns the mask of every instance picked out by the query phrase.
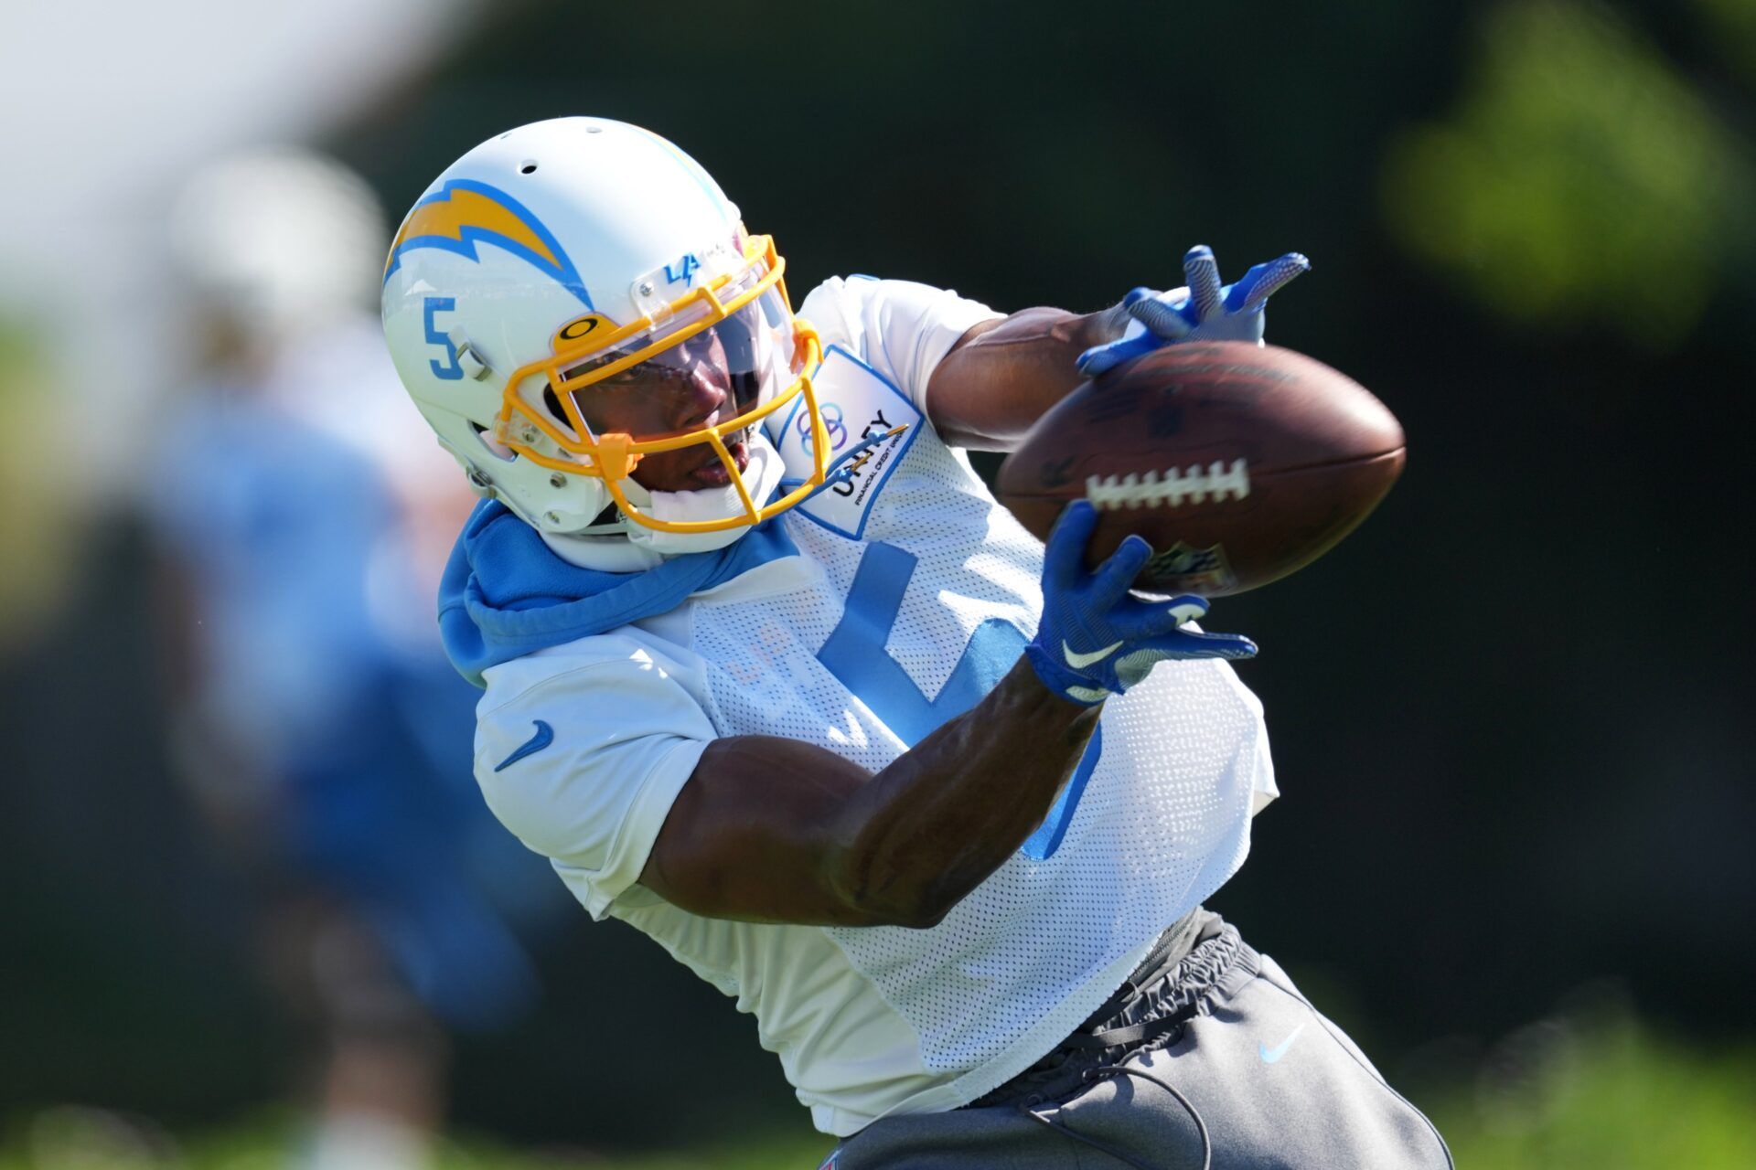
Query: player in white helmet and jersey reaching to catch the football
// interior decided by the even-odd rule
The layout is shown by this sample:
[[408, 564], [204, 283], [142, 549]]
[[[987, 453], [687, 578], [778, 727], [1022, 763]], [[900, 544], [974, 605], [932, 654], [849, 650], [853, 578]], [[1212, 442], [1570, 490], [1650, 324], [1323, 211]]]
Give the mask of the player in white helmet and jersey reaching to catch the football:
[[485, 496], [441, 626], [488, 805], [594, 917], [757, 1017], [827, 1165], [1442, 1166], [1443, 1142], [1201, 909], [1275, 795], [1192, 596], [1082, 565], [971, 474], [1083, 377], [1261, 340], [1301, 256], [1080, 316], [831, 279], [636, 126], [464, 154], [385, 330]]

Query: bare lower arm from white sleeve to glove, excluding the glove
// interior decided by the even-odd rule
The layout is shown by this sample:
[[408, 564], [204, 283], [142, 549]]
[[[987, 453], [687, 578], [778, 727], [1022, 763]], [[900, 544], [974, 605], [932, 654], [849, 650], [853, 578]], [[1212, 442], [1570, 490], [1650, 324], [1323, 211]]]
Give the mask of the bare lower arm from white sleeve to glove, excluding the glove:
[[715, 740], [641, 884], [708, 917], [931, 926], [1036, 830], [1096, 726], [1020, 660], [878, 774], [815, 744]]

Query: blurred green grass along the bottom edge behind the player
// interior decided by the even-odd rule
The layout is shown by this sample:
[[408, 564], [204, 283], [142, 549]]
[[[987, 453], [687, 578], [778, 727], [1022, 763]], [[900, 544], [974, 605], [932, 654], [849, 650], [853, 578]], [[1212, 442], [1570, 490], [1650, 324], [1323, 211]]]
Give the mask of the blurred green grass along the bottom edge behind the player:
[[[1465, 1170], [1756, 1166], [1756, 1047], [1710, 1054], [1626, 1017], [1533, 1024], [1426, 1105]], [[277, 1170], [295, 1137], [284, 1112], [174, 1138], [61, 1107], [7, 1126], [0, 1170]], [[435, 1170], [811, 1170], [827, 1152], [829, 1140], [801, 1117], [797, 1131], [622, 1156], [451, 1137]]]

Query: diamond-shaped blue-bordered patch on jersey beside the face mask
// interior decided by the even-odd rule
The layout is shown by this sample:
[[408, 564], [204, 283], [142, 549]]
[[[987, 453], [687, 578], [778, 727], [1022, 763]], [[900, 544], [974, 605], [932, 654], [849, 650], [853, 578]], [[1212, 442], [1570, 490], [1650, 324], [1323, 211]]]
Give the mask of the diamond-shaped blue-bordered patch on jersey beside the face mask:
[[[845, 475], [832, 479], [827, 488], [797, 507], [824, 528], [859, 540], [885, 481], [920, 433], [922, 416], [908, 395], [841, 346], [825, 351], [824, 363], [811, 375], [811, 388], [829, 437], [831, 468], [862, 440], [901, 428], [901, 433], [874, 442], [843, 463]], [[785, 423], [767, 428], [767, 437], [780, 449], [790, 479], [810, 477], [815, 470], [815, 451], [811, 416], [804, 409], [802, 396], [787, 412]]]

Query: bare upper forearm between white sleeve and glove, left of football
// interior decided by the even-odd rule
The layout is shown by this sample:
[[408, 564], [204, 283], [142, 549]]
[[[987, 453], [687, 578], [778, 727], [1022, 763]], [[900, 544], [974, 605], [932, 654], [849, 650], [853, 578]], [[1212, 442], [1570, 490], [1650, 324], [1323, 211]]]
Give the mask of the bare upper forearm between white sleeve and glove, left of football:
[[927, 382], [927, 416], [945, 442], [1011, 451], [1052, 405], [1080, 384], [1075, 360], [1122, 335], [1120, 305], [1076, 314], [1024, 309], [971, 330]]

